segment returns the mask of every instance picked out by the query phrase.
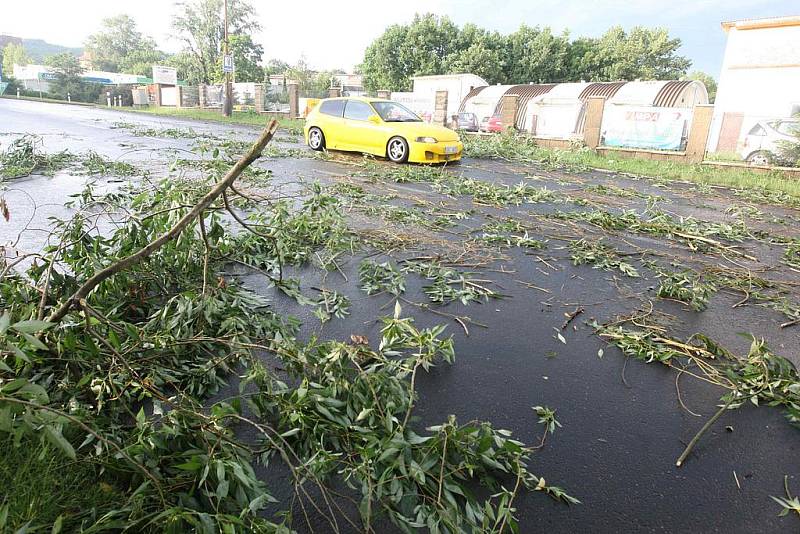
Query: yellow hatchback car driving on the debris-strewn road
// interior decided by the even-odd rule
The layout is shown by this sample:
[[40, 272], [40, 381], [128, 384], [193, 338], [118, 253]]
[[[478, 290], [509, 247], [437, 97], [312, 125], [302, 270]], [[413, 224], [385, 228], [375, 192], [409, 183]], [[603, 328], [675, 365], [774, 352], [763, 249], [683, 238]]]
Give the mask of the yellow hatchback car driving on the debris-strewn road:
[[378, 98], [326, 98], [306, 117], [305, 134], [314, 150], [364, 152], [395, 163], [457, 161], [464, 151], [453, 130]]

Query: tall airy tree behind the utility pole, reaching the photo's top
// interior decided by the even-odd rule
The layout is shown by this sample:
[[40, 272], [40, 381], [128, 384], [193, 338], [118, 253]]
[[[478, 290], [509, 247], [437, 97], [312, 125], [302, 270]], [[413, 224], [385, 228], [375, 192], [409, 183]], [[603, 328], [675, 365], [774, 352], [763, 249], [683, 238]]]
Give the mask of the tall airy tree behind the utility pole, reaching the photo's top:
[[[190, 83], [212, 83], [218, 70], [225, 35], [223, 0], [187, 0], [175, 4], [172, 18], [177, 38], [183, 42]], [[261, 28], [248, 0], [228, 0], [229, 35], [244, 36]]]

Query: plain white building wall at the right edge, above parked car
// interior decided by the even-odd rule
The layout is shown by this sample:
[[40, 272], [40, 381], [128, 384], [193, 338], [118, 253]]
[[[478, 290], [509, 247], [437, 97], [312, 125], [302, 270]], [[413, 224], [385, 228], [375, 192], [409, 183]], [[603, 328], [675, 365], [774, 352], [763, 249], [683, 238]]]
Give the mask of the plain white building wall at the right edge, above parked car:
[[800, 17], [796, 23], [754, 27], [734, 23], [728, 41], [708, 149], [717, 148], [725, 113], [744, 115], [739, 141], [761, 120], [800, 112]]

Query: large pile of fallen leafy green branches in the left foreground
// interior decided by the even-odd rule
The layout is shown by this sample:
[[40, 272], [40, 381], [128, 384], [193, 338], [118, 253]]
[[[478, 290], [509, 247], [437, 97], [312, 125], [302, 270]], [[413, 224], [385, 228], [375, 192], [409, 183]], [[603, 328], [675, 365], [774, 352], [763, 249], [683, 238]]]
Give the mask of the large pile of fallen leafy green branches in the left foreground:
[[[289, 532], [324, 521], [374, 532], [384, 518], [404, 531], [516, 532], [522, 488], [576, 502], [528, 470], [534, 449], [507, 431], [452, 417], [415, 427], [416, 375], [454, 358], [443, 327], [420, 329], [398, 306], [377, 348], [361, 337], [301, 343], [295, 320], [230, 273], [244, 265], [285, 286], [284, 265], [352, 247], [341, 207], [319, 188], [299, 211], [236, 189], [276, 128], [207, 188], [87, 187], [42, 253], [5, 251], [0, 435], [88, 465], [86, 484], [114, 498], [24, 518], [11, 488], [0, 527]], [[109, 220], [114, 230], [100, 231]], [[234, 374], [239, 393], [210, 402]], [[242, 427], [255, 432], [243, 439]], [[254, 466], [273, 459], [295, 497], [267, 517], [275, 499]], [[342, 483], [345, 493], [331, 489]]]

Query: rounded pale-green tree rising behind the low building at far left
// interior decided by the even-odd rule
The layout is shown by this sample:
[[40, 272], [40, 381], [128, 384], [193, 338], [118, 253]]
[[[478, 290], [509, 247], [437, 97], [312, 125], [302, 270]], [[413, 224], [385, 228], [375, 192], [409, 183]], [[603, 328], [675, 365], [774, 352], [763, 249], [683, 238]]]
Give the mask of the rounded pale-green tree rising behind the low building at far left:
[[86, 40], [86, 51], [95, 69], [131, 74], [147, 74], [142, 72], [144, 63], [152, 67], [164, 58], [155, 41], [138, 31], [128, 15], [104, 19], [103, 29]]

